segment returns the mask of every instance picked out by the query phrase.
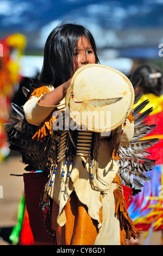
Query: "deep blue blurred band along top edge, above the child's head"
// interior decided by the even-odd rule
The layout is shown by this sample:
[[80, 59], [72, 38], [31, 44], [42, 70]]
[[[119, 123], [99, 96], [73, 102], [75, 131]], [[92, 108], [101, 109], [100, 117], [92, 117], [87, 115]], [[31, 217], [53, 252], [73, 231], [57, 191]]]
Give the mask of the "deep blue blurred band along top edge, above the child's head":
[[1, 29], [34, 31], [55, 20], [87, 20], [112, 29], [163, 26], [163, 0], [1, 0]]

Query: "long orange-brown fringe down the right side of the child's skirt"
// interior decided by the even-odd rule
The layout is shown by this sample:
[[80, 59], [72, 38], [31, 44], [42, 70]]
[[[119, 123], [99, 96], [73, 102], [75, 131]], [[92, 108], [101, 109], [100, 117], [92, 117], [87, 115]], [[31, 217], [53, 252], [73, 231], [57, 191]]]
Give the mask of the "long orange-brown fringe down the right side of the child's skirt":
[[115, 197], [115, 215], [118, 214], [120, 219], [120, 237], [121, 237], [121, 245], [127, 245], [126, 239], [130, 239], [131, 236], [134, 239], [138, 238], [138, 231], [135, 228], [133, 221], [131, 220], [126, 206], [126, 200], [124, 199], [122, 193], [121, 182], [118, 174], [113, 181], [113, 183], [117, 183], [117, 188], [114, 190]]

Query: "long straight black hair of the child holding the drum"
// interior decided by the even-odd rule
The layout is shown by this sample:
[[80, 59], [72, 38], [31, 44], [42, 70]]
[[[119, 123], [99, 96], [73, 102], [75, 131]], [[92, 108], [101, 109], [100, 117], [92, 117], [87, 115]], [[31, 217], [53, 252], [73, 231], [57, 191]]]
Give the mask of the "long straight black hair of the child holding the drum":
[[99, 63], [95, 40], [90, 31], [82, 25], [62, 23], [53, 29], [46, 40], [39, 76], [41, 84], [52, 84], [56, 88], [71, 78], [71, 74], [74, 74], [74, 48], [78, 47], [81, 36], [89, 40], [96, 63]]

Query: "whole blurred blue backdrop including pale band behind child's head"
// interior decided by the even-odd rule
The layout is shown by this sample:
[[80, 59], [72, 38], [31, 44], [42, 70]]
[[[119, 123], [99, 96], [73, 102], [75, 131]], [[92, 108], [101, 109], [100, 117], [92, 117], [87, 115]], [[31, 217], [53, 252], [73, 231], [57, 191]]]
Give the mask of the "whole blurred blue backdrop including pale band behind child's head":
[[157, 52], [163, 42], [163, 0], [0, 1], [0, 36], [23, 33], [29, 48], [42, 49], [65, 20], [89, 28], [99, 48], [154, 47]]

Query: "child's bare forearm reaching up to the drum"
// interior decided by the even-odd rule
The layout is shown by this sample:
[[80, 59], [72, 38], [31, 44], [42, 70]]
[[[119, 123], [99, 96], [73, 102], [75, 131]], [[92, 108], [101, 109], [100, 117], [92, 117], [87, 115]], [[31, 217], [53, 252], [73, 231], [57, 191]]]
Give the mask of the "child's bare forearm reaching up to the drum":
[[68, 87], [70, 86], [71, 80], [72, 80], [72, 78], [70, 78], [68, 81], [61, 84], [57, 88], [55, 88], [55, 90], [52, 90], [52, 92], [43, 95], [41, 97], [40, 101], [38, 102], [39, 105], [43, 105], [43, 106], [58, 105], [58, 103], [62, 99], [64, 99], [64, 97], [66, 96], [66, 91], [67, 91]]

